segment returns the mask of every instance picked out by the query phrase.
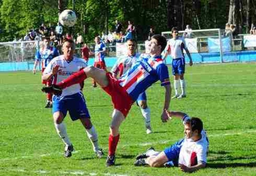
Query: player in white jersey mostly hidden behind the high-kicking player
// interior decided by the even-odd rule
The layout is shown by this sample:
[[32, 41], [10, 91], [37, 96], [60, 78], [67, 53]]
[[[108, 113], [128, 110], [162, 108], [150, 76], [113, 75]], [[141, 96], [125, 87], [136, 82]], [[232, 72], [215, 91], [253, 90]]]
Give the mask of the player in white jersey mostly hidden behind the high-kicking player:
[[[114, 77], [120, 77], [125, 74], [128, 69], [132, 67], [132, 64], [134, 64], [140, 57], [140, 54], [136, 53], [136, 42], [134, 40], [129, 39], [126, 42], [126, 45], [128, 51], [127, 55], [120, 58], [111, 70]], [[152, 133], [150, 125], [150, 108], [147, 105], [146, 92], [143, 92], [138, 96], [137, 104], [140, 106], [142, 116], [145, 119], [146, 133], [150, 134]]]

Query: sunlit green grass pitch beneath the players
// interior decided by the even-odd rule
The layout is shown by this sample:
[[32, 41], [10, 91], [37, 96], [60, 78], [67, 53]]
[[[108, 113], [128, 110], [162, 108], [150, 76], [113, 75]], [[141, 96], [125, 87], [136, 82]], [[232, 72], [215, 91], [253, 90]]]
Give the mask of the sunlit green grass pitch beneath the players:
[[[172, 100], [170, 109], [198, 116], [208, 132], [208, 167], [190, 176], [256, 175], [256, 63], [194, 65], [187, 67], [187, 98]], [[138, 153], [150, 146], [163, 150], [183, 137], [178, 119], [162, 123], [164, 88], [147, 90], [153, 134], [146, 134], [137, 106], [122, 124], [116, 166], [106, 168], [96, 158], [85, 130], [69, 116], [65, 123], [76, 153], [62, 155], [63, 144], [54, 129], [40, 73], [0, 73], [0, 175], [1, 176], [165, 176], [188, 175], [179, 168], [135, 167]], [[98, 131], [100, 146], [108, 151], [110, 97], [86, 80], [84, 95]]]

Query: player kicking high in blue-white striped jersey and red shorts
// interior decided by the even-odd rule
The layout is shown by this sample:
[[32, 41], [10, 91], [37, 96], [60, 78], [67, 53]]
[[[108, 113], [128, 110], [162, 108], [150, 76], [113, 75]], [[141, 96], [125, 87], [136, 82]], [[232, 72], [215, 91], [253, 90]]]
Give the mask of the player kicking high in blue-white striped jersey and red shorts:
[[167, 122], [168, 120], [165, 109], [168, 109], [170, 105], [171, 86], [168, 68], [161, 58], [161, 53], [165, 47], [166, 38], [160, 35], [152, 36], [149, 44], [150, 57], [140, 58], [140, 60], [132, 64], [126, 74], [123, 74], [118, 79], [114, 78], [110, 72], [88, 66], [56, 85], [42, 88], [43, 92], [60, 94], [62, 89], [91, 77], [111, 96], [114, 111], [110, 124], [106, 166], [115, 164], [115, 152], [120, 137], [119, 127], [126, 118], [132, 104], [138, 99], [139, 94], [158, 80], [160, 80], [161, 86], [165, 88], [164, 107], [161, 114], [162, 122]]

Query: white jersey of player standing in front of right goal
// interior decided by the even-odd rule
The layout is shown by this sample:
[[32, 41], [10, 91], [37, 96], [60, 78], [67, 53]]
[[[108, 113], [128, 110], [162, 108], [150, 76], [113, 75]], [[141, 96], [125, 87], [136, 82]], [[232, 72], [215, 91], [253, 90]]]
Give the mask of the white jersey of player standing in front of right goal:
[[184, 58], [183, 49], [187, 48], [183, 37], [178, 36], [177, 39], [168, 40], [165, 51], [170, 51], [172, 59]]

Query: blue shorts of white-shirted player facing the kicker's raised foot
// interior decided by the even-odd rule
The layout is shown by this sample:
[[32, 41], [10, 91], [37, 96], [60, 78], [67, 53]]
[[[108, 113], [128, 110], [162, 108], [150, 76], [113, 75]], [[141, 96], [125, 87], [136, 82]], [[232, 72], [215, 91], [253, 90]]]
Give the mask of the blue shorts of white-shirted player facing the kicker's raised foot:
[[68, 96], [53, 96], [52, 113], [58, 111], [62, 112], [64, 117], [69, 112], [73, 121], [80, 118], [90, 118], [84, 95], [81, 92]]

